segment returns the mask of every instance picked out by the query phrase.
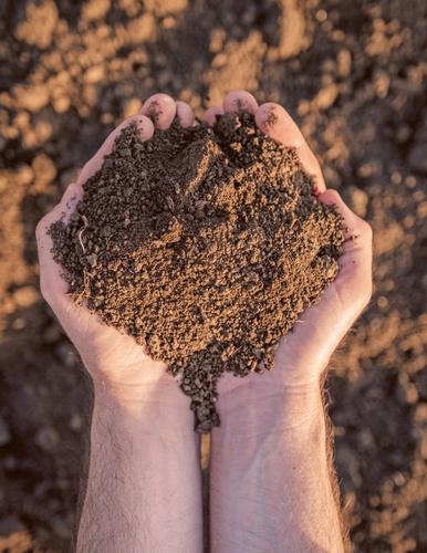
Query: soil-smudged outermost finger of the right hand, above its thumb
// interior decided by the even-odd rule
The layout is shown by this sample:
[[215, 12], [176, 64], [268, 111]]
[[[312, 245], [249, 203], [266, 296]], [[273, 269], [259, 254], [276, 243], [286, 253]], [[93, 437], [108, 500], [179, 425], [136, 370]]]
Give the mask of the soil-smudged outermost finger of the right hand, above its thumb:
[[270, 136], [278, 144], [295, 148], [302, 166], [314, 180], [316, 191], [323, 194], [326, 186], [319, 161], [289, 113], [281, 105], [268, 102], [258, 108], [256, 123], [267, 136]]

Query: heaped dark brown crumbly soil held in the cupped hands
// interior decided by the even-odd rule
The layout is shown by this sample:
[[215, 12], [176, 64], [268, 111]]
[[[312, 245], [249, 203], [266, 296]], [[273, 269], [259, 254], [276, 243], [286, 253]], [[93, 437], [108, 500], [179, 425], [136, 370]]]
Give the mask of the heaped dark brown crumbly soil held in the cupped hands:
[[226, 114], [140, 142], [125, 128], [51, 227], [69, 292], [183, 374], [195, 429], [219, 425], [218, 378], [274, 364], [273, 349], [335, 279], [344, 234], [294, 152]]

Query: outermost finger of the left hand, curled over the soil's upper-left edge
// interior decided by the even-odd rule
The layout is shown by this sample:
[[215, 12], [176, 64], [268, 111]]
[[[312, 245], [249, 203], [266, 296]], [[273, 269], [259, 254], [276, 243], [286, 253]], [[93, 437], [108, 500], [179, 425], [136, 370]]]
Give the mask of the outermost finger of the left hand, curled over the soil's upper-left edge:
[[121, 132], [128, 127], [129, 125], [135, 124], [140, 133], [140, 138], [143, 142], [152, 138], [154, 133], [153, 122], [143, 114], [132, 115], [132, 117], [127, 117], [117, 128], [115, 128], [106, 138], [101, 148], [96, 152], [92, 159], [90, 159], [86, 165], [83, 167], [81, 174], [77, 178], [77, 185], [83, 186], [84, 182], [88, 178], [91, 178], [97, 170], [101, 169], [105, 156], [112, 153], [114, 142]]

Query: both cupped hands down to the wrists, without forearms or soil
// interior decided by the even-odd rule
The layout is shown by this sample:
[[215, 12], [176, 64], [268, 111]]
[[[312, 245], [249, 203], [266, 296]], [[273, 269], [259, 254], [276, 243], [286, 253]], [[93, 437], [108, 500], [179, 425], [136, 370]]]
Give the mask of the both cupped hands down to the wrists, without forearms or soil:
[[[326, 189], [317, 160], [296, 124], [280, 105], [267, 103], [258, 106], [251, 94], [235, 91], [225, 97], [222, 106], [209, 108], [202, 118], [214, 125], [216, 115], [225, 112], [238, 114], [244, 109], [254, 115], [258, 127], [265, 135], [295, 148], [306, 173], [314, 178], [320, 201], [335, 205], [342, 213], [347, 240], [339, 261], [341, 269], [337, 278], [324, 292], [321, 302], [303, 313], [302, 323], [295, 325], [295, 332], [281, 340], [275, 351], [274, 369], [262, 377], [250, 374], [244, 378], [235, 378], [225, 374], [218, 392], [220, 397], [227, 398], [236, 395], [238, 389], [243, 397], [251, 395], [253, 386], [257, 386], [257, 396], [263, 393], [268, 396], [272, 392], [283, 395], [287, 392], [319, 389], [320, 376], [332, 353], [371, 298], [371, 228], [345, 206], [335, 190]], [[125, 400], [143, 398], [147, 389], [158, 392], [159, 387], [171, 399], [181, 392], [166, 373], [164, 363], [150, 359], [132, 336], [101, 324], [95, 315], [77, 307], [66, 295], [67, 284], [61, 278], [61, 267], [52, 259], [52, 240], [48, 230], [60, 218], [67, 222], [83, 197], [84, 182], [101, 168], [125, 126], [136, 123], [143, 140], [148, 140], [154, 133], [153, 121], [159, 129], [166, 129], [176, 114], [183, 127], [192, 125], [194, 114], [188, 104], [175, 102], [166, 94], [149, 97], [137, 115], [125, 119], [107, 137], [84, 166], [77, 181], [69, 186], [60, 204], [40, 221], [37, 229], [42, 293], [77, 348], [93, 378], [95, 394], [101, 386], [107, 386]]]

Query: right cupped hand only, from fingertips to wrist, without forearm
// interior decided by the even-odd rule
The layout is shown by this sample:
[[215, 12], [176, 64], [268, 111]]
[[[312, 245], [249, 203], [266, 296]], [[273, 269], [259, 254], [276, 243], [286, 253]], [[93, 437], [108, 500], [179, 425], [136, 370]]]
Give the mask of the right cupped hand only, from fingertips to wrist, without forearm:
[[[320, 377], [332, 353], [366, 306], [372, 293], [371, 228], [345, 206], [335, 190], [326, 189], [314, 154], [283, 107], [274, 103], [259, 107], [251, 94], [235, 91], [226, 96], [223, 107], [208, 109], [205, 119], [212, 124], [216, 114], [225, 111], [238, 113], [242, 108], [254, 115], [256, 123], [263, 133], [279, 144], [295, 148], [304, 169], [314, 179], [320, 201], [336, 207], [347, 231], [335, 281], [325, 290], [320, 303], [301, 315], [301, 320], [294, 325], [294, 333], [281, 340], [275, 349], [275, 366], [272, 372], [264, 372], [262, 376], [249, 374], [244, 378], [226, 374], [220, 379], [220, 415], [236, 405], [237, 389], [244, 400], [251, 396], [261, 400], [263, 394], [270, 397], [271, 394], [288, 392], [291, 395], [312, 389], [319, 393]], [[271, 117], [272, 113], [274, 117]]]

